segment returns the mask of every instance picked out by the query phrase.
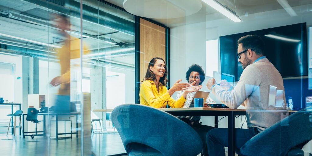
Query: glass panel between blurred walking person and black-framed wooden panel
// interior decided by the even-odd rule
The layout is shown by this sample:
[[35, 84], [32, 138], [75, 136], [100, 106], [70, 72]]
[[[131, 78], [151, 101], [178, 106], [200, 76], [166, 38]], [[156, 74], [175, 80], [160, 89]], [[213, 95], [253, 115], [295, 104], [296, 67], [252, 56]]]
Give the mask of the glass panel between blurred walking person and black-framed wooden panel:
[[134, 103], [134, 16], [99, 1], [83, 4], [86, 13], [93, 13], [84, 14], [82, 23], [82, 90], [90, 94], [92, 152], [125, 153], [111, 112], [93, 110]]

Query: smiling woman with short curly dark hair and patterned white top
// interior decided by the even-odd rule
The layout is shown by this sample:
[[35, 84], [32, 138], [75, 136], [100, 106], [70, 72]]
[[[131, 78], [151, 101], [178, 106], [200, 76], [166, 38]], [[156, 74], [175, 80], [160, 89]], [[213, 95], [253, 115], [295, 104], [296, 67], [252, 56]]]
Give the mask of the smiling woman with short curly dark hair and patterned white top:
[[[186, 72], [186, 80], [188, 81], [189, 84], [193, 84], [194, 82], [196, 82], [194, 86], [201, 85], [202, 82], [204, 82], [205, 80], [205, 72], [201, 66], [194, 64], [188, 68], [188, 71]], [[178, 91], [177, 99], [180, 99], [181, 96], [184, 94], [184, 92], [185, 92], [184, 90]], [[188, 108], [190, 106], [196, 92], [197, 91], [188, 93], [185, 104], [183, 106], [184, 108]], [[210, 97], [207, 97], [206, 103], [215, 104], [215, 102]], [[206, 146], [206, 134], [209, 130], [213, 129], [214, 127], [202, 125], [201, 122], [199, 122], [200, 116], [178, 116], [178, 118], [183, 120], [184, 122], [186, 122], [195, 129], [195, 131], [199, 134], [199, 136], [202, 139], [203, 143], [202, 155], [205, 156], [208, 155]]]

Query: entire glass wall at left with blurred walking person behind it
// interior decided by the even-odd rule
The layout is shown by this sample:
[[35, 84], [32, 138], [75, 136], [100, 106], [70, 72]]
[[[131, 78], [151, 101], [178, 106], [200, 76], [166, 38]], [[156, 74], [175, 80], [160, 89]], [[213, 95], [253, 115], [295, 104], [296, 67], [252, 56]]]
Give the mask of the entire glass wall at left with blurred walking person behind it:
[[[134, 15], [81, 2], [0, 4], [0, 139], [14, 149], [5, 155], [125, 153], [110, 112], [93, 110], [134, 103]], [[7, 126], [19, 119], [6, 115], [19, 106], [15, 136]]]

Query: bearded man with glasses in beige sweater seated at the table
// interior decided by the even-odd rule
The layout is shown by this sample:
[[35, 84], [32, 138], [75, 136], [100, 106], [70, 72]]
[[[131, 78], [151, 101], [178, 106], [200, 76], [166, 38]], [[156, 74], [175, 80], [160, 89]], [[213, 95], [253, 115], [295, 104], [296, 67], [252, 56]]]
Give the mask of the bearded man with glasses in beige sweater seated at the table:
[[[237, 85], [232, 90], [224, 90], [224, 87], [215, 84], [215, 80], [212, 78], [208, 80], [207, 88], [229, 108], [237, 108], [240, 105], [245, 106], [248, 129], [235, 128], [234, 131], [235, 152], [241, 155], [239, 150], [243, 144], [286, 116], [283, 116], [282, 113], [258, 111], [269, 110], [270, 85], [284, 91], [283, 79], [280, 73], [263, 56], [264, 42], [261, 37], [247, 35], [241, 37], [237, 44], [236, 55], [238, 62], [241, 63], [244, 69]], [[285, 94], [283, 97], [284, 103], [286, 103]], [[228, 147], [228, 129], [210, 130], [207, 133], [207, 147], [209, 155], [225, 156], [224, 147]]]

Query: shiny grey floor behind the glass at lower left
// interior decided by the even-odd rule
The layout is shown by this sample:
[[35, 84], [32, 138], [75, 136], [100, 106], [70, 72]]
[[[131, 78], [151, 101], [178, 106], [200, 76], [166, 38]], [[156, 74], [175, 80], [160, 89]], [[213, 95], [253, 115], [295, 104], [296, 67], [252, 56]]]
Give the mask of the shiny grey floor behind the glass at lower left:
[[[92, 140], [92, 141], [90, 141]], [[91, 134], [91, 139], [84, 139], [84, 148], [91, 149], [97, 156], [125, 153], [119, 134], [105, 132]], [[81, 138], [72, 139], [48, 139], [42, 136], [22, 136], [0, 134], [0, 155], [2, 156], [80, 156]], [[88, 154], [83, 154], [88, 155]]]

